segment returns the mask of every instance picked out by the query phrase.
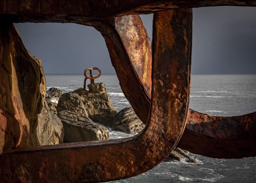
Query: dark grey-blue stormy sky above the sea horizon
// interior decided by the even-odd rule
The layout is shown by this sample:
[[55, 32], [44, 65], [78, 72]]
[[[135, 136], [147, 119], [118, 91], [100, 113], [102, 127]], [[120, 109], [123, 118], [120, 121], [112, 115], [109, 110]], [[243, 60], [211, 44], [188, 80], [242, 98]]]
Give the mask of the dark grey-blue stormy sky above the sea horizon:
[[[152, 40], [153, 14], [140, 15]], [[74, 23], [15, 23], [46, 74], [113, 74], [102, 35]], [[256, 7], [193, 8], [192, 74], [256, 74]]]

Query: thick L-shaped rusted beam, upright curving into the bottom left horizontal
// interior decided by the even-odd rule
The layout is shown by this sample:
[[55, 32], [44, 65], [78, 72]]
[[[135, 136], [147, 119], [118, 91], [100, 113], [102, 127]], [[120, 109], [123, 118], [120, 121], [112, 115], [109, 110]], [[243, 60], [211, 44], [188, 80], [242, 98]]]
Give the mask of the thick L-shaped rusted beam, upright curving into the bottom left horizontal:
[[[177, 145], [186, 125], [191, 59], [191, 49], [187, 48], [192, 36], [191, 15], [191, 9], [180, 9], [154, 16], [152, 102], [148, 124], [141, 133], [133, 138], [107, 142], [13, 150], [0, 157], [1, 181], [115, 180], [138, 175], [165, 159]], [[175, 26], [175, 22], [181, 24]], [[158, 26], [163, 26], [163, 29], [157, 29]], [[180, 34], [176, 35], [177, 32]]]

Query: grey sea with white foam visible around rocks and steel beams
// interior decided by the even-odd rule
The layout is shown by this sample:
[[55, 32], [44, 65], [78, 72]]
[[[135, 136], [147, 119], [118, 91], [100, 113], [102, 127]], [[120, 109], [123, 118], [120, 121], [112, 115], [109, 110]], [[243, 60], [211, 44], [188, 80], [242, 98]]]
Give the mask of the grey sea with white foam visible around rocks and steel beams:
[[[46, 74], [45, 77], [47, 89], [56, 87], [66, 93], [83, 87], [83, 74]], [[105, 83], [117, 111], [130, 107], [115, 74], [102, 74], [95, 82]], [[256, 74], [192, 74], [190, 108], [215, 116], [234, 116], [256, 111]], [[109, 139], [131, 136], [110, 128]], [[163, 161], [138, 176], [108, 183], [256, 183], [256, 157], [214, 159], [192, 153], [190, 155], [198, 163], [188, 163], [186, 159]]]

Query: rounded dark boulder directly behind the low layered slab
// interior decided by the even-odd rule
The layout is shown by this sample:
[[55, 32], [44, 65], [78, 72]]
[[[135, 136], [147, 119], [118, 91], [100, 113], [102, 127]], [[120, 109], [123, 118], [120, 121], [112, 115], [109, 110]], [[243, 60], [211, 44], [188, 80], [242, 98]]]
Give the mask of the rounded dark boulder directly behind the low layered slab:
[[56, 109], [58, 113], [61, 111], [70, 111], [78, 116], [88, 117], [81, 97], [73, 92], [61, 95]]

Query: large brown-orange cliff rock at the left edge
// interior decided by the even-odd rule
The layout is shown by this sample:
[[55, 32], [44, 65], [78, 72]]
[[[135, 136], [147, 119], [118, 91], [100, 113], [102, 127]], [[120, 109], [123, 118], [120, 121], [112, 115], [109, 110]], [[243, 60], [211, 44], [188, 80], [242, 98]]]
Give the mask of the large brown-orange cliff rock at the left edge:
[[30, 55], [12, 23], [1, 22], [0, 155], [31, 145], [45, 90], [41, 60]]

